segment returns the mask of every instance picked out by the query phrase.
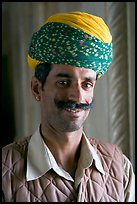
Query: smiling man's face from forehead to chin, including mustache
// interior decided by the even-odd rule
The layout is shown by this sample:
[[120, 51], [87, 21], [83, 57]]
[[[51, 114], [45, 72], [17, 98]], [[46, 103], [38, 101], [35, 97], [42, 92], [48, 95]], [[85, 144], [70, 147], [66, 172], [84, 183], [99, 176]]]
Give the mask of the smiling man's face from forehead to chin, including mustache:
[[61, 132], [80, 129], [90, 111], [81, 104], [92, 103], [95, 83], [96, 72], [92, 70], [52, 65], [41, 90], [42, 125]]

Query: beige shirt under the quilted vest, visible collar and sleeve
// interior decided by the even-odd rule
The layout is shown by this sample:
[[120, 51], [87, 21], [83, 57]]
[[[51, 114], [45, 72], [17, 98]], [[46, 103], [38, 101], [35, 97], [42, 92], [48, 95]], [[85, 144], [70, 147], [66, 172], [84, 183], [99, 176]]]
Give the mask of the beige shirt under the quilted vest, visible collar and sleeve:
[[[123, 155], [123, 157], [125, 170], [125, 202], [135, 202], [135, 175], [133, 172], [133, 167], [129, 159], [125, 155]], [[93, 160], [95, 161], [95, 166], [98, 171], [100, 171], [102, 174], [105, 174], [98, 154], [96, 153], [93, 146], [89, 143], [89, 140], [87, 139], [86, 135], [83, 133], [81, 154], [78, 161], [78, 167], [75, 173], [75, 179], [73, 179], [68, 172], [58, 166], [51, 151], [44, 143], [38, 128], [31, 137], [28, 146], [26, 178], [27, 181], [35, 180], [44, 175], [52, 168], [58, 175], [74, 182], [74, 185], [77, 188], [83, 176], [83, 169], [91, 166]]]

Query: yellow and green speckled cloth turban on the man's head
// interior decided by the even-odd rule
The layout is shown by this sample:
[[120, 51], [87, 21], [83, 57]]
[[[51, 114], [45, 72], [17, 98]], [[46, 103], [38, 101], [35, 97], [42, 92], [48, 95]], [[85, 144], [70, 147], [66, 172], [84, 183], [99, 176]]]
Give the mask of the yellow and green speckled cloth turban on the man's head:
[[31, 38], [28, 65], [66, 64], [94, 70], [101, 77], [112, 61], [112, 36], [101, 17], [84, 12], [57, 13]]

